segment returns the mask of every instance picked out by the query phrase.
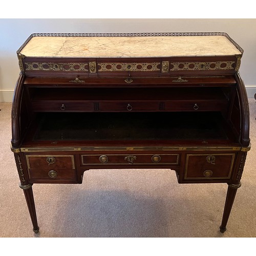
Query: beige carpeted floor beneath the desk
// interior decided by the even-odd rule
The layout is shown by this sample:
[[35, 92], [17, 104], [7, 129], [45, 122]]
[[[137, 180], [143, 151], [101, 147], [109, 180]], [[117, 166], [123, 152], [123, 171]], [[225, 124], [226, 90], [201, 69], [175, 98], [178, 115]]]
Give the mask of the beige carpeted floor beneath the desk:
[[89, 170], [82, 184], [34, 184], [35, 234], [10, 151], [11, 103], [0, 103], [0, 237], [255, 237], [256, 103], [242, 187], [219, 231], [227, 184], [178, 184], [169, 169]]

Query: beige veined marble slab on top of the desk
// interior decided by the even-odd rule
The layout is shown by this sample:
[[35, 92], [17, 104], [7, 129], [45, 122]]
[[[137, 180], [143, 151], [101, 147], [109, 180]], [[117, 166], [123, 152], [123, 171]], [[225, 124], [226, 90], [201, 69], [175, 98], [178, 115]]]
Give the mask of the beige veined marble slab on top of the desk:
[[35, 36], [20, 51], [27, 57], [169, 57], [241, 55], [222, 35]]

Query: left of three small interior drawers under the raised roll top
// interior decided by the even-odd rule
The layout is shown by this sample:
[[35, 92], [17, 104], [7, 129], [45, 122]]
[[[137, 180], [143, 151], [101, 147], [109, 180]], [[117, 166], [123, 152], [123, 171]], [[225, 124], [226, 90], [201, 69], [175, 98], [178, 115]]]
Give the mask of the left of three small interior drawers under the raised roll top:
[[34, 111], [94, 111], [93, 102], [84, 101], [34, 101]]

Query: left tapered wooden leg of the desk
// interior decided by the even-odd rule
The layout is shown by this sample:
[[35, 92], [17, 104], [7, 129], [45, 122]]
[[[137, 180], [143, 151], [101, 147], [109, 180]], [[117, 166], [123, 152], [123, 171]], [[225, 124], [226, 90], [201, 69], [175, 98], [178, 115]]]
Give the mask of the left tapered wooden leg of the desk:
[[19, 187], [22, 188], [24, 191], [24, 195], [25, 195], [28, 209], [29, 209], [30, 218], [31, 218], [31, 221], [33, 224], [33, 231], [35, 233], [38, 233], [39, 227], [38, 227], [37, 218], [36, 218], [35, 202], [34, 202], [32, 184], [28, 184], [28, 185], [19, 184]]

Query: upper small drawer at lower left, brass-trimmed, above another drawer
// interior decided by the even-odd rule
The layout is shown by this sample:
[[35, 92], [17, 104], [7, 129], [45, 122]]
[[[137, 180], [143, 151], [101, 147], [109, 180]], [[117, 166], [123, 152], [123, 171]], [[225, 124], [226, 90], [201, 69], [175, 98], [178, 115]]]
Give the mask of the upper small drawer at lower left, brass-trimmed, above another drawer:
[[73, 155], [26, 155], [28, 168], [75, 169]]

